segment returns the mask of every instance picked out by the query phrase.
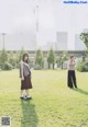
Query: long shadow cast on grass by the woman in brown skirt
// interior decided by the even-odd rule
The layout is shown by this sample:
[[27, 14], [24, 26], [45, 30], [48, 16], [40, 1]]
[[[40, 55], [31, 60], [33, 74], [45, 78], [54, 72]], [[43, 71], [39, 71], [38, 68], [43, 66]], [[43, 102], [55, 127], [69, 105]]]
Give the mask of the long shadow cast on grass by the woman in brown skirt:
[[22, 118], [21, 127], [37, 127], [38, 118], [35, 112], [35, 105], [30, 101], [21, 101]]

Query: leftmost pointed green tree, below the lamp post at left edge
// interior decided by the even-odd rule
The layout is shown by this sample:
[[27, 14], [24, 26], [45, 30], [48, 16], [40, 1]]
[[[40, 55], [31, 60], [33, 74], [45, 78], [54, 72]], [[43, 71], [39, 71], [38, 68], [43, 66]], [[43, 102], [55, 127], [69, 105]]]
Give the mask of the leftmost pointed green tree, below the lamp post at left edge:
[[4, 69], [4, 65], [6, 65], [7, 61], [8, 61], [8, 54], [7, 54], [6, 49], [3, 48], [1, 50], [1, 54], [0, 54], [0, 66], [1, 66], [1, 69]]

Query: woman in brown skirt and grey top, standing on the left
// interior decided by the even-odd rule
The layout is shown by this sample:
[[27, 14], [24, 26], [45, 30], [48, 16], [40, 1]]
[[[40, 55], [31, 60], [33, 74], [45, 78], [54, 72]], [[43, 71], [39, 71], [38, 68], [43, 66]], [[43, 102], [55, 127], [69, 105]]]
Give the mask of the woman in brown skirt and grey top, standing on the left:
[[[32, 83], [28, 54], [23, 55], [23, 59], [20, 64], [20, 78], [21, 78], [21, 99], [31, 100], [32, 97], [29, 94], [29, 89], [32, 89]], [[25, 90], [25, 96], [23, 95], [23, 90]]]

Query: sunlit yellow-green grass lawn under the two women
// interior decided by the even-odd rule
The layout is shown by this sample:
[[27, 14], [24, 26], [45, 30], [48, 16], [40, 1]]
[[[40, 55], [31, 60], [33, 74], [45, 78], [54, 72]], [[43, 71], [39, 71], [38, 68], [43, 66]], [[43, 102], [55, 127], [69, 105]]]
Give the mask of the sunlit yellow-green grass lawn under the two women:
[[32, 70], [33, 100], [21, 101], [19, 70], [0, 71], [0, 116], [11, 116], [11, 127], [88, 127], [88, 73], [76, 74], [77, 91], [67, 71]]

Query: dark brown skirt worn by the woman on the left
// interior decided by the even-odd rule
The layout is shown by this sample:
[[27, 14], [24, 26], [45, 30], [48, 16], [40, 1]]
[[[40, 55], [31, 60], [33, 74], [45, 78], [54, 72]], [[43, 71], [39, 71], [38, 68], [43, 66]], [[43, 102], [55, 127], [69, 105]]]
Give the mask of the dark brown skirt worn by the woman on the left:
[[21, 90], [32, 89], [31, 77], [24, 77], [24, 80], [21, 81]]

